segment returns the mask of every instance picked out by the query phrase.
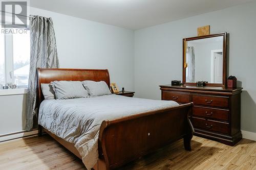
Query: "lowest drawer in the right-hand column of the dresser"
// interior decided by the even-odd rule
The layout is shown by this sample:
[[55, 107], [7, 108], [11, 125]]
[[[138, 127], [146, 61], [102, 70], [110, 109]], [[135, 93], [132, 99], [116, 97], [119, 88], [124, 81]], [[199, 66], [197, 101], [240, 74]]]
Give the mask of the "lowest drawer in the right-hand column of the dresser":
[[205, 120], [203, 118], [196, 118], [196, 117], [192, 118], [192, 122], [195, 128], [228, 134], [228, 129], [229, 129], [228, 123], [221, 123], [213, 120]]

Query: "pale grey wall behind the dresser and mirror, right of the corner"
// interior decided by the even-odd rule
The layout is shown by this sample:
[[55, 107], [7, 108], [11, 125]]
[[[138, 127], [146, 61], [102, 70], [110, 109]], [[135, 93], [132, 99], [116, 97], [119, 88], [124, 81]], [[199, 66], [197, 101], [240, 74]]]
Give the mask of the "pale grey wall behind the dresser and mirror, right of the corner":
[[210, 25], [211, 34], [227, 32], [229, 75], [244, 88], [241, 128], [256, 132], [255, 39], [256, 3], [244, 4], [135, 31], [136, 97], [161, 99], [159, 85], [182, 80], [182, 38], [197, 36]]

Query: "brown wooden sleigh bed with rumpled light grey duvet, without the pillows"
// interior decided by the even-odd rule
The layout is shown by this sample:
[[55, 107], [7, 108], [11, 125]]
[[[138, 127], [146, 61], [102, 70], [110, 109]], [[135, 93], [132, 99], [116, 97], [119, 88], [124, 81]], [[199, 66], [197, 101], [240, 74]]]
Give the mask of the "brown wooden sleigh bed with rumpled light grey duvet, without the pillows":
[[[38, 135], [41, 136], [44, 130], [82, 159], [83, 162], [86, 161], [84, 152], [87, 152], [86, 149], [89, 148], [86, 142], [92, 143], [91, 141], [94, 141], [91, 144], [94, 146], [92, 147], [94, 148], [92, 153], [97, 152], [97, 160], [94, 160], [95, 154], [92, 154], [91, 159], [93, 158], [93, 161], [90, 163], [93, 162], [95, 164], [87, 167], [93, 167], [95, 170], [114, 169], [182, 138], [184, 140], [184, 148], [188, 151], [191, 150], [190, 141], [193, 137], [193, 127], [188, 119], [188, 114], [193, 103], [184, 105], [175, 105], [173, 103], [172, 106], [169, 101], [133, 99], [115, 94], [88, 99], [44, 101], [44, 95], [42, 95], [40, 88], [41, 83], [61, 80], [92, 80], [104, 81], [110, 87], [110, 76], [106, 69], [38, 68], [37, 73], [38, 102], [39, 105], [41, 104], [39, 108], [40, 115], [38, 115]], [[113, 109], [113, 103], [115, 102], [117, 107]], [[96, 107], [98, 103], [100, 105]], [[54, 114], [54, 112], [51, 112], [51, 110], [54, 110], [51, 107], [58, 108], [57, 110], [63, 113], [63, 115], [56, 114], [61, 115], [61, 117], [54, 117], [58, 119], [58, 122], [65, 122], [68, 119], [67, 117], [71, 117], [68, 121], [69, 123], [65, 124], [72, 127], [74, 126], [70, 125], [72, 119], [77, 119], [78, 122], [80, 121], [77, 124], [83, 126], [83, 124], [88, 123], [84, 121], [92, 120], [93, 115], [93, 121], [95, 119], [97, 121], [92, 123], [89, 129], [91, 130], [93, 127], [96, 130], [92, 131], [93, 133], [90, 130], [86, 131], [89, 135], [93, 134], [93, 140], [84, 140], [84, 138], [88, 139], [88, 137], [84, 137], [84, 131], [77, 133], [82, 137], [72, 135], [74, 134], [73, 132], [55, 132], [54, 128], [51, 128], [51, 123], [47, 125], [50, 119], [46, 121], [49, 115]], [[63, 109], [66, 110], [63, 111]], [[69, 113], [71, 111], [67, 111], [70, 109], [77, 109], [74, 112], [78, 110], [80, 112], [90, 112], [91, 115], [83, 114], [82, 118], [75, 117], [74, 114], [70, 114], [72, 115], [70, 116]], [[59, 127], [61, 127], [61, 124], [58, 125]], [[65, 130], [63, 131], [65, 132]]]

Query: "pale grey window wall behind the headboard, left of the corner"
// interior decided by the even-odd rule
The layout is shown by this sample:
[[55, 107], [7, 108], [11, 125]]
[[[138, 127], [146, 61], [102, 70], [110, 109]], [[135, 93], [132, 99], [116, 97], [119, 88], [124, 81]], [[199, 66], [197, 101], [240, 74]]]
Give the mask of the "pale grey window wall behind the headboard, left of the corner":
[[[62, 68], [109, 69], [111, 82], [134, 90], [134, 31], [30, 8], [52, 17]], [[26, 94], [0, 96], [0, 137], [25, 128]]]

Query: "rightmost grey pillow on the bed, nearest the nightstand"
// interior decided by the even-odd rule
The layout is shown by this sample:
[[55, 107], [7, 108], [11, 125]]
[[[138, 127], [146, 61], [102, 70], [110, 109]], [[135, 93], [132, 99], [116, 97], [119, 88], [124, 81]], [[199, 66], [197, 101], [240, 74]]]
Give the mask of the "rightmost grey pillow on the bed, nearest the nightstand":
[[104, 81], [95, 82], [86, 80], [82, 82], [84, 88], [89, 92], [91, 96], [108, 95], [111, 94], [109, 86]]

